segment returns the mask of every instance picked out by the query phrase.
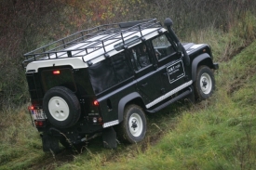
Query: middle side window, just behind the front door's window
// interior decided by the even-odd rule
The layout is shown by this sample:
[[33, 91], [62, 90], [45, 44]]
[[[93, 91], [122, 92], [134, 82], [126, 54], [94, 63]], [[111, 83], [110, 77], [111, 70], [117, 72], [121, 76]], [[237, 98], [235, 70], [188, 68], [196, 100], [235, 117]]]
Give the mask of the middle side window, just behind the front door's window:
[[150, 50], [145, 43], [132, 46], [129, 50], [131, 63], [135, 71], [139, 71], [152, 63], [151, 56], [149, 55]]

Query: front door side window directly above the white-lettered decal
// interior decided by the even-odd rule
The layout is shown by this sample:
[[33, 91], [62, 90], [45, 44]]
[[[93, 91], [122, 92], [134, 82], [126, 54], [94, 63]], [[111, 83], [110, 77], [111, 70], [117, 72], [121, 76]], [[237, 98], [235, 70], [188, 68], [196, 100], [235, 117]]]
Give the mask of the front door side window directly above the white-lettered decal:
[[168, 42], [168, 38], [165, 34], [157, 36], [152, 40], [152, 44], [155, 49], [156, 59], [164, 59], [174, 53], [174, 49]]

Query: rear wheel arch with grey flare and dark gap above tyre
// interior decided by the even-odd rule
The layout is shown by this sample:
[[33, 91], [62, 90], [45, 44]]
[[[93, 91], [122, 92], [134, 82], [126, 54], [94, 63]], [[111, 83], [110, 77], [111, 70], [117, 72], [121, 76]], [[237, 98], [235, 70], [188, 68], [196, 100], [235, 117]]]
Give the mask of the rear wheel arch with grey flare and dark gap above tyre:
[[141, 106], [141, 108], [144, 108], [144, 102], [141, 98], [141, 95], [138, 92], [133, 92], [125, 96], [124, 98], [121, 98], [118, 103], [118, 121], [119, 123], [123, 121], [123, 114], [125, 107], [128, 104], [137, 104], [138, 106]]

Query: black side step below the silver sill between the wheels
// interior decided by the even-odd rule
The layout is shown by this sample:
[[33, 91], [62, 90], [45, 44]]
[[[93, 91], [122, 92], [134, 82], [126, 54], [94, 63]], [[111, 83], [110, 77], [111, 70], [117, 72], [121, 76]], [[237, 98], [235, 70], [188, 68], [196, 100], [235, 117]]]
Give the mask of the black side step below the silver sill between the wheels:
[[155, 113], [156, 111], [160, 111], [161, 109], [164, 109], [165, 107], [167, 107], [169, 104], [174, 103], [175, 101], [178, 101], [179, 99], [182, 99], [186, 96], [188, 96], [189, 94], [193, 93], [193, 89], [191, 87], [188, 87], [188, 90], [184, 91], [182, 94], [180, 94], [179, 96], [175, 97], [175, 98], [171, 98], [170, 100], [168, 100], [167, 102], [163, 103], [162, 105], [156, 107], [154, 110], [146, 110], [147, 112], [150, 113]]

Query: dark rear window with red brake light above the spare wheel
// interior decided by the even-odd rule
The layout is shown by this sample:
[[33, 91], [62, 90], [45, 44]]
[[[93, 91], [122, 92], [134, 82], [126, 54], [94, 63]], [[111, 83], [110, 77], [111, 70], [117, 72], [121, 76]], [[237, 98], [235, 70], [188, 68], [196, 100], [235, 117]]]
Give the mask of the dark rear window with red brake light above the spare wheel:
[[44, 91], [47, 92], [54, 86], [66, 86], [72, 91], [76, 91], [74, 77], [71, 69], [54, 69], [41, 72]]

